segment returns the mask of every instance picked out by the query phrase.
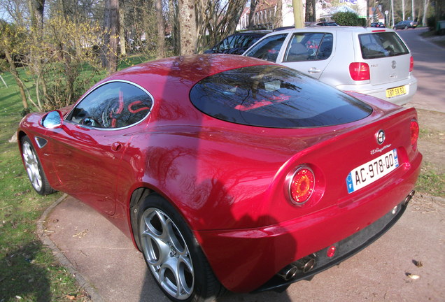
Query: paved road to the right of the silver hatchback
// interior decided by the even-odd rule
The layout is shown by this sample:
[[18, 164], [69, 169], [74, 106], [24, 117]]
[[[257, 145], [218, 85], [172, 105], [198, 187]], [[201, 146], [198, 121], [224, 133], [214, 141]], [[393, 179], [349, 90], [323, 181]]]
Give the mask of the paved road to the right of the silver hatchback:
[[419, 34], [426, 29], [399, 30], [414, 57], [418, 89], [408, 106], [445, 113], [445, 48], [425, 41]]

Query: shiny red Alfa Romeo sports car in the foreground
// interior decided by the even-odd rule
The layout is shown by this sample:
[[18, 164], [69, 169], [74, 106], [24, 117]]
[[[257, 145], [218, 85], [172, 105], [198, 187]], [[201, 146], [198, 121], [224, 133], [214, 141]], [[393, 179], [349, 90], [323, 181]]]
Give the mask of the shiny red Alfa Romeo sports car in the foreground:
[[249, 57], [125, 69], [24, 117], [39, 194], [95, 208], [174, 301], [285, 289], [388, 230], [414, 194], [414, 108]]

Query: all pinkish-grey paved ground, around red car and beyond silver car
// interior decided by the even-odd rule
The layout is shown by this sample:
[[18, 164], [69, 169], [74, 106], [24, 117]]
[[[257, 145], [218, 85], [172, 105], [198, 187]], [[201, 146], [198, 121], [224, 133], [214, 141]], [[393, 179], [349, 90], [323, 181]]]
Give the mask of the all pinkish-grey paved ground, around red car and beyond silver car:
[[[408, 106], [445, 112], [445, 49], [421, 39], [420, 31], [397, 31], [413, 52], [418, 78], [418, 92]], [[444, 206], [444, 199], [416, 195], [392, 229], [339, 266], [280, 294], [228, 293], [218, 302], [445, 301]], [[92, 301], [169, 301], [132, 240], [71, 196], [45, 211], [38, 230]]]

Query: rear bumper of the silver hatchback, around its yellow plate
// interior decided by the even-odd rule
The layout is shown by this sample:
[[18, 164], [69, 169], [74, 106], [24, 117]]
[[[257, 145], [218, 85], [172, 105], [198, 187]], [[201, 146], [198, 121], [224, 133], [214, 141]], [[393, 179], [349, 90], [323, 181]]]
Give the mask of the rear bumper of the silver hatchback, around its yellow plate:
[[[408, 85], [407, 94], [404, 94], [402, 96], [395, 96], [392, 98], [386, 97], [386, 89], [404, 85]], [[391, 83], [390, 87], [388, 87], [388, 84], [386, 83], [385, 85], [339, 85], [336, 86], [336, 88], [343, 91], [352, 91], [359, 92], [361, 94], [367, 94], [402, 106], [406, 103], [409, 103], [411, 99], [413, 99], [413, 96], [417, 91], [417, 79], [414, 78], [414, 76], [411, 76], [409, 80], [402, 80]]]

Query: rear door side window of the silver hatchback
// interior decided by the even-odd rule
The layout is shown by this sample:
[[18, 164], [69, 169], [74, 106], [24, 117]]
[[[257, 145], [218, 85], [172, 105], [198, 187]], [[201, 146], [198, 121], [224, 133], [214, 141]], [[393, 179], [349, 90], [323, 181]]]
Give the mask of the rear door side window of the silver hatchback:
[[283, 62], [327, 59], [332, 53], [332, 34], [296, 33], [292, 36]]

